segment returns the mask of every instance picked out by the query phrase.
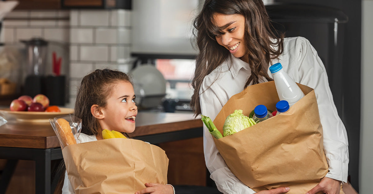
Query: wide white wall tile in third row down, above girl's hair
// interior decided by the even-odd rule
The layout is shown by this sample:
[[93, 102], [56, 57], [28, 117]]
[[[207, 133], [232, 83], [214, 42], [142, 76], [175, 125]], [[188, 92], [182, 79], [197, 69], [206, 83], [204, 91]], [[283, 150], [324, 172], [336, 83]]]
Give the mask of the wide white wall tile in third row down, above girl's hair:
[[81, 46], [80, 60], [81, 61], [108, 61], [109, 60], [108, 46]]

